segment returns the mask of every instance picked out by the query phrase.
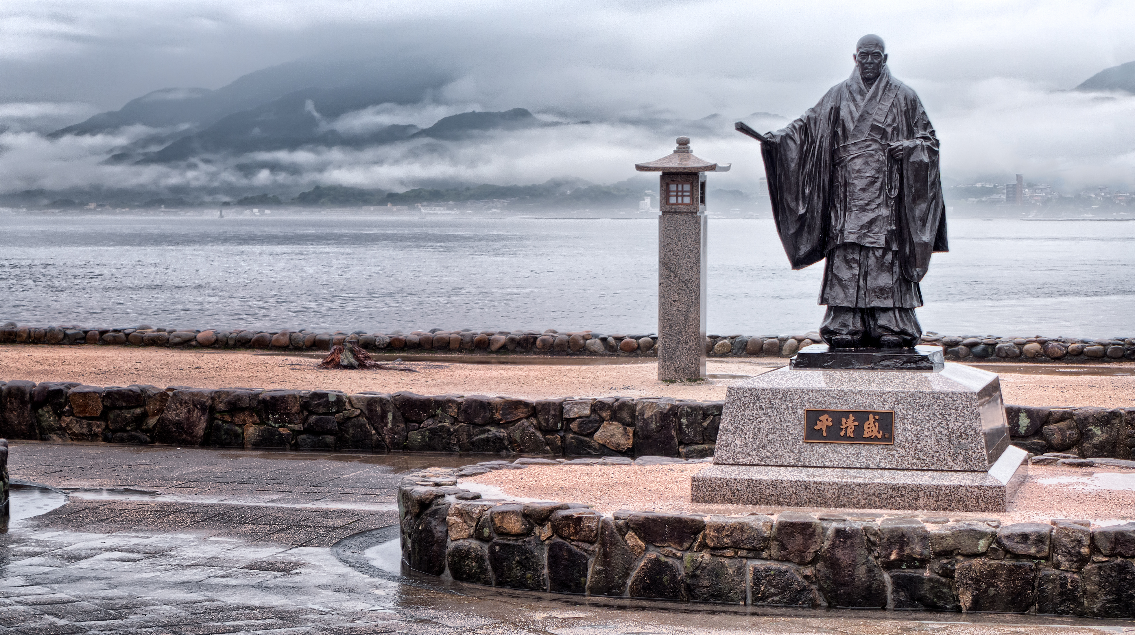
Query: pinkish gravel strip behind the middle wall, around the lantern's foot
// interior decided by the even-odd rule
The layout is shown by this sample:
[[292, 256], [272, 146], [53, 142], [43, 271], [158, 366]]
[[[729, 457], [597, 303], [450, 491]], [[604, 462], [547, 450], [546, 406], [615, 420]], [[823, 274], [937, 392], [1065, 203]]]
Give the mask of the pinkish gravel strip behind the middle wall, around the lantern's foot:
[[[674, 397], [715, 400], [735, 378], [711, 379], [704, 384], [669, 384], [656, 379], [656, 364], [594, 366], [453, 364], [411, 362], [419, 372], [392, 370], [325, 371], [311, 357], [257, 355], [251, 352], [170, 350], [95, 346], [0, 346], [0, 380], [79, 381], [93, 386], [192, 386], [194, 388], [297, 388], [345, 392], [410, 390], [421, 395], [507, 395], [546, 397]], [[755, 375], [772, 370], [779, 359], [711, 359], [709, 374]], [[1061, 366], [1065, 367], [1065, 366]], [[1075, 366], [1068, 365], [1068, 369]], [[1061, 376], [1001, 374], [1007, 404], [1025, 406], [1135, 406], [1135, 366], [1109, 364], [1126, 376]]]

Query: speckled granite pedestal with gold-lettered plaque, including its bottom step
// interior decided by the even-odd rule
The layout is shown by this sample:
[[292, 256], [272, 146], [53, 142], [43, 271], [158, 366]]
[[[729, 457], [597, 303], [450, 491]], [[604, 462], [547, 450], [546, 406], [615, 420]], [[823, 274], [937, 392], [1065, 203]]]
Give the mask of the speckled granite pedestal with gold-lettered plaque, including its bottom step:
[[692, 500], [1003, 511], [1026, 457], [993, 373], [780, 369], [728, 389]]

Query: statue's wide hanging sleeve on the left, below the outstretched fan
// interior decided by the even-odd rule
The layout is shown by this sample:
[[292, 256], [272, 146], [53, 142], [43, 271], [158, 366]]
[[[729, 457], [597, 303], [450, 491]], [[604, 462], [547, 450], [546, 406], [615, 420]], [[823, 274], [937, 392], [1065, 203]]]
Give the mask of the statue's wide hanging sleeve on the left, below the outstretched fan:
[[792, 269], [819, 262], [826, 252], [834, 93], [760, 144], [776, 232]]

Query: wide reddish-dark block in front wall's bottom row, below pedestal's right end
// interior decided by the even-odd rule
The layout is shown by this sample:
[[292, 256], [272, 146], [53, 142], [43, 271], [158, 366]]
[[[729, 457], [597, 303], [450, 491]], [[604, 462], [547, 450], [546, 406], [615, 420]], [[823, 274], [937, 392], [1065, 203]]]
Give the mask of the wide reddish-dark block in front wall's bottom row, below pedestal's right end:
[[1033, 607], [1036, 565], [1027, 560], [977, 558], [958, 562], [955, 584], [964, 611], [1023, 613]]

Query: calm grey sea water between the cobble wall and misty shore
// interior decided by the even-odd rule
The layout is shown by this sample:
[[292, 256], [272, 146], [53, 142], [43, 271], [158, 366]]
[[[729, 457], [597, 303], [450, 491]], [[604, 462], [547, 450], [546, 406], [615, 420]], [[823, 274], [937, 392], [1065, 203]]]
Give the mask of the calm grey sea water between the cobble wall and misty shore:
[[[926, 330], [1135, 336], [1135, 222], [956, 219]], [[720, 335], [818, 325], [822, 264], [768, 219], [709, 220]], [[0, 213], [0, 322], [174, 328], [651, 332], [655, 219]]]

